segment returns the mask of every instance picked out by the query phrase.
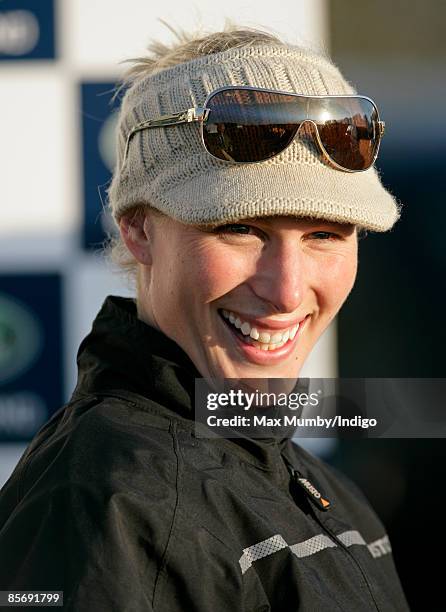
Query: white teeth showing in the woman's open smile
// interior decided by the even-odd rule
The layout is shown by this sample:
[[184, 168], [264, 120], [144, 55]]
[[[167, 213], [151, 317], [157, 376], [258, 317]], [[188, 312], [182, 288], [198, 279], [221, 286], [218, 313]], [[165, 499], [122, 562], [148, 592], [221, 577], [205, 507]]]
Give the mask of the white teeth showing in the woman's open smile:
[[303, 323], [297, 323], [283, 331], [264, 332], [251, 326], [247, 321], [242, 321], [240, 317], [230, 310], [219, 309], [218, 313], [225, 325], [242, 342], [262, 351], [275, 351], [285, 344], [292, 342], [299, 330], [299, 326]]

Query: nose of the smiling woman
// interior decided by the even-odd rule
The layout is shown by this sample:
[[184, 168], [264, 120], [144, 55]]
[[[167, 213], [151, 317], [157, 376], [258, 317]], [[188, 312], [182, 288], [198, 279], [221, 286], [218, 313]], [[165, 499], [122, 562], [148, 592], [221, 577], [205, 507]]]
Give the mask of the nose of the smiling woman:
[[307, 272], [296, 237], [267, 249], [258, 261], [251, 288], [275, 312], [294, 313], [302, 303]]

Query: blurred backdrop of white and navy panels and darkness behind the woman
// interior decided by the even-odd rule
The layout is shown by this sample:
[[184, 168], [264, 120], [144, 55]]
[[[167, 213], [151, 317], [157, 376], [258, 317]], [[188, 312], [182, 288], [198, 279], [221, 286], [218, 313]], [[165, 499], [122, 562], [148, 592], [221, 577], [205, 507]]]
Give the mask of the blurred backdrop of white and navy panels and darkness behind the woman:
[[[386, 121], [377, 166], [402, 219], [361, 241], [356, 287], [303, 375], [444, 376], [446, 3], [0, 0], [0, 486], [69, 400], [106, 295], [132, 295], [100, 254], [119, 62], [172, 40], [159, 19], [187, 31], [225, 18], [328, 49]], [[442, 527], [431, 526], [446, 501], [444, 440], [306, 444], [370, 499], [412, 609], [444, 609]]]

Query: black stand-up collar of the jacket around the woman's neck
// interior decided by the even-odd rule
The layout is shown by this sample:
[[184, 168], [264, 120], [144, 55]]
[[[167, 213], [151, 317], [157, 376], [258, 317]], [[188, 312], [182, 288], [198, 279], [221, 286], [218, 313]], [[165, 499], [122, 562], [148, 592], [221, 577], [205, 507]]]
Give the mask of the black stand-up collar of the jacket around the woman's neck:
[[[137, 394], [157, 402], [172, 416], [194, 418], [195, 365], [173, 340], [137, 316], [133, 298], [108, 296], [77, 354], [78, 382], [73, 396]], [[167, 408], [168, 406], [168, 408]], [[227, 440], [225, 442], [228, 442]], [[266, 470], [289, 440], [240, 437], [226, 444], [241, 458]]]

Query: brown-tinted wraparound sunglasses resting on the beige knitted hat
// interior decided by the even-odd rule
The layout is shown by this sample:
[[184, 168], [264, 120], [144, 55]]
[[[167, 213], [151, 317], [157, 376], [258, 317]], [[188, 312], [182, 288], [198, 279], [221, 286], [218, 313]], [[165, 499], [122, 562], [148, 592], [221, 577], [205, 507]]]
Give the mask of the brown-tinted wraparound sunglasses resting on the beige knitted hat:
[[376, 104], [366, 96], [306, 96], [226, 86], [211, 92], [202, 107], [136, 125], [127, 137], [122, 167], [136, 132], [194, 121], [200, 123], [206, 151], [237, 164], [271, 159], [293, 142], [302, 126], [313, 126], [324, 158], [346, 172], [362, 172], [373, 165], [385, 129]]

